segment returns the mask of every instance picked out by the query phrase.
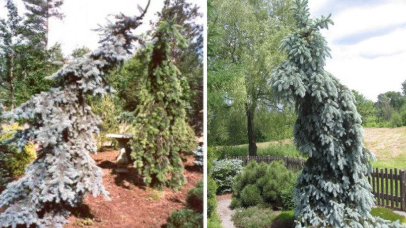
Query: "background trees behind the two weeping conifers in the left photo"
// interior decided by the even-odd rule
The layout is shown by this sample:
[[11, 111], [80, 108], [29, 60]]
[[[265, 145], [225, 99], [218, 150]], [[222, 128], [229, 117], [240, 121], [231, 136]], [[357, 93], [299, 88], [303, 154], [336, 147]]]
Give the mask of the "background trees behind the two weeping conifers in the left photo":
[[[90, 52], [80, 47], [64, 56], [60, 44], [49, 46], [48, 21], [55, 17], [63, 20], [60, 7], [63, 0], [23, 0], [26, 14], [19, 16], [12, 0], [8, 0], [8, 14], [0, 19], [0, 98], [4, 98], [4, 109], [10, 110], [25, 102], [32, 95], [47, 91], [53, 82], [44, 79], [55, 73], [60, 65], [84, 56]], [[157, 15], [162, 20], [176, 16], [181, 26], [181, 34], [187, 40], [185, 48], [172, 47], [176, 67], [180, 71], [183, 99], [186, 100], [187, 121], [196, 133], [202, 132], [203, 68], [202, 68], [202, 25], [196, 23], [201, 17], [198, 7], [184, 0], [166, 0], [164, 9]], [[159, 21], [159, 20], [158, 20]], [[144, 42], [150, 42], [152, 31], [157, 26], [151, 22], [152, 29], [146, 32]], [[107, 77], [116, 93], [104, 99], [91, 98], [94, 111], [104, 121], [105, 131], [118, 131], [122, 122], [131, 122], [129, 112], [139, 105], [139, 92], [145, 86], [146, 45], [134, 50], [131, 58], [112, 71]], [[108, 105], [109, 110], [100, 108]], [[102, 129], [102, 130], [103, 130]]]

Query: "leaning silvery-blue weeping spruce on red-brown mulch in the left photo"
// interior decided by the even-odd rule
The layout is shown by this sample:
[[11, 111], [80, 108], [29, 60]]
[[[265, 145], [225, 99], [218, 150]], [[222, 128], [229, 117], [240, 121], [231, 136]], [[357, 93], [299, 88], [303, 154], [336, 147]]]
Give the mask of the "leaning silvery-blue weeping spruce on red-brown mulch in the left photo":
[[[148, 7], [147, 7], [148, 8]], [[40, 145], [37, 159], [24, 177], [12, 182], [0, 195], [0, 227], [62, 227], [70, 208], [85, 194], [103, 195], [101, 169], [89, 155], [96, 153], [93, 134], [100, 119], [87, 104], [86, 96], [102, 96], [112, 91], [105, 73], [121, 64], [138, 37], [139, 17], [116, 16], [115, 23], [100, 28], [100, 47], [66, 64], [50, 78], [58, 87], [34, 95], [17, 107], [14, 120], [24, 120], [29, 128], [20, 131], [15, 141], [22, 148], [28, 141]]]

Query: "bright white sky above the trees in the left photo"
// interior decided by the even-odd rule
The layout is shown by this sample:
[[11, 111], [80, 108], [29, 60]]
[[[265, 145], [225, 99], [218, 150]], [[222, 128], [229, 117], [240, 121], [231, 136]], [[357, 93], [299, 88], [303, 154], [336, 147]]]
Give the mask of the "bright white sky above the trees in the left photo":
[[[14, 2], [18, 6], [19, 13], [24, 14], [23, 2], [21, 0], [14, 0]], [[137, 5], [144, 8], [147, 2], [147, 0], [65, 0], [61, 7], [65, 18], [62, 21], [54, 18], [50, 19], [49, 44], [61, 43], [65, 55], [71, 54], [72, 50], [77, 47], [87, 46], [94, 49], [98, 46], [99, 36], [92, 29], [98, 28], [98, 24], [104, 25], [106, 16], [118, 13], [139, 15]], [[202, 4], [205, 1], [189, 0], [188, 2], [200, 6], [201, 13], [206, 12], [207, 5]], [[0, 17], [2, 18], [7, 15], [5, 5], [6, 0], [0, 0]], [[162, 7], [163, 1], [151, 0], [148, 12], [144, 17], [144, 23], [136, 32], [141, 33], [149, 30], [150, 21], [155, 22], [157, 20], [156, 12], [161, 11]], [[199, 19], [199, 23], [202, 24], [203, 19]]]

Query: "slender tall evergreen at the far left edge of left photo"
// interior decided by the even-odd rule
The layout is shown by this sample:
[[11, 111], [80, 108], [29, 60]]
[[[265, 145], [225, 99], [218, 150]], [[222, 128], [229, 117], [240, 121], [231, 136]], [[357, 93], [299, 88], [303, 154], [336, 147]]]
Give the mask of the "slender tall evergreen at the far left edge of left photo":
[[0, 58], [4, 61], [0, 65], [0, 80], [7, 82], [10, 90], [11, 108], [15, 107], [15, 74], [16, 59], [21, 52], [23, 41], [23, 19], [18, 16], [17, 7], [12, 0], [6, 3], [8, 19], [0, 19]]

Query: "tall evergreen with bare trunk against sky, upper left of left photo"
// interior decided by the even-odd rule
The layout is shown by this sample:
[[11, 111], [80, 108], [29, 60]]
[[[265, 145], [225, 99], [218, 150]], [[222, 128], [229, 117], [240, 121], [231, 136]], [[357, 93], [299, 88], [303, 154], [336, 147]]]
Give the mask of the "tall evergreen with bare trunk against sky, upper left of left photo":
[[49, 18], [63, 19], [64, 15], [59, 11], [63, 0], [23, 0], [27, 9], [28, 25], [31, 36], [41, 34], [44, 36], [45, 49], [48, 48]]

